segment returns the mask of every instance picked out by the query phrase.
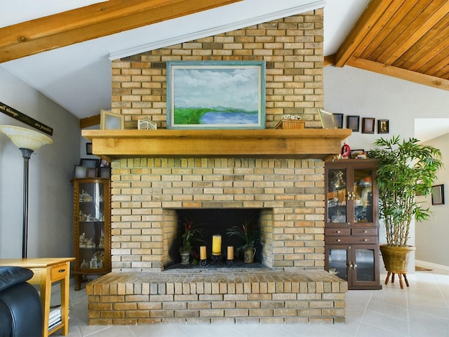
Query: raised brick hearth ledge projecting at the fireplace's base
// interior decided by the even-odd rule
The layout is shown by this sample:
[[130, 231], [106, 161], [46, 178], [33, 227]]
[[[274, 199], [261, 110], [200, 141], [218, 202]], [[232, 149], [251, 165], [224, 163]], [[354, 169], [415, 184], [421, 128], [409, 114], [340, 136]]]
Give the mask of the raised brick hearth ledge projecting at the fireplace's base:
[[327, 272], [112, 273], [86, 287], [90, 324], [344, 323], [347, 283]]

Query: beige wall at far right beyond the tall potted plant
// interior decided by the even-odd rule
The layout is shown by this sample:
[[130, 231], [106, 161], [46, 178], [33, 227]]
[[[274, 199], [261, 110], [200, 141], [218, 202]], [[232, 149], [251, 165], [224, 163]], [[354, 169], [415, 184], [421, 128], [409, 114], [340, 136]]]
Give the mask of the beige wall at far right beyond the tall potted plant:
[[424, 144], [440, 149], [443, 155], [445, 168], [438, 171], [438, 180], [434, 185], [444, 184], [445, 204], [431, 205], [431, 197], [428, 196], [426, 198], [434, 216], [425, 223], [420, 223], [416, 226], [416, 246], [420, 247], [416, 251], [416, 258], [438, 265], [449, 266], [449, 224], [447, 220], [449, 218], [449, 134], [434, 138]]

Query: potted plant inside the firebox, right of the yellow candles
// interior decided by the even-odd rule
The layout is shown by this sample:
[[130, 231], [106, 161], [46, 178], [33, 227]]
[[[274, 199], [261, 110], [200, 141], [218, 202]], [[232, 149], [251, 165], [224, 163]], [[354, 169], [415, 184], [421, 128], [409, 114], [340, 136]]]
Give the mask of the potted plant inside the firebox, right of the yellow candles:
[[262, 230], [257, 225], [253, 225], [251, 220], [244, 221], [240, 226], [233, 226], [227, 230], [229, 236], [236, 235], [243, 240], [243, 244], [238, 251], [243, 251], [243, 261], [253, 263], [255, 256], [255, 245], [260, 242]]

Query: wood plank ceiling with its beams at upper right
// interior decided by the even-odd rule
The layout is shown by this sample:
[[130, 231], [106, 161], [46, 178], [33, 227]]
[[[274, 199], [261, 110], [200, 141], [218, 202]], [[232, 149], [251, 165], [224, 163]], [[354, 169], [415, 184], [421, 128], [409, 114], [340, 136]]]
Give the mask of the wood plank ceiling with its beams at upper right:
[[325, 65], [350, 65], [449, 90], [449, 1], [370, 1]]

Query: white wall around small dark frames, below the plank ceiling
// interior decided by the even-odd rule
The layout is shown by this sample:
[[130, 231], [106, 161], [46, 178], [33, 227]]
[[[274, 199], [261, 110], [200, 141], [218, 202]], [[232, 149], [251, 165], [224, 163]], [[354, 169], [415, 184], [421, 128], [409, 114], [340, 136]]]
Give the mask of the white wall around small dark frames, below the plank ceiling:
[[[347, 139], [347, 143], [354, 150], [373, 148], [373, 142], [380, 136], [383, 138], [413, 137], [415, 119], [449, 117], [448, 106], [449, 93], [442, 89], [354, 67], [324, 68], [324, 107], [330, 112], [344, 114], [344, 126], [346, 125], [346, 115], [356, 115], [361, 118], [374, 117], [376, 126], [377, 119], [389, 119], [389, 134], [378, 134], [377, 127], [375, 134], [353, 133]], [[446, 167], [449, 168], [449, 166]], [[444, 221], [444, 219], [444, 217], [437, 218], [438, 221]], [[427, 240], [425, 233], [420, 232], [421, 234], [424, 235], [420, 237], [420, 242]], [[382, 227], [380, 236], [382, 240]], [[445, 244], [448, 238], [443, 235], [438, 237], [438, 233], [436, 236], [434, 244]], [[415, 230], [413, 230], [408, 244], [415, 244], [417, 251], [420, 251], [424, 249], [424, 247], [420, 247], [420, 242], [415, 244]], [[420, 260], [424, 260], [424, 258], [420, 258]], [[437, 260], [440, 262], [436, 262]], [[434, 254], [426, 255], [425, 261], [449, 265], [447, 258], [445, 261], [441, 261]]]

